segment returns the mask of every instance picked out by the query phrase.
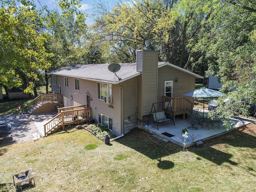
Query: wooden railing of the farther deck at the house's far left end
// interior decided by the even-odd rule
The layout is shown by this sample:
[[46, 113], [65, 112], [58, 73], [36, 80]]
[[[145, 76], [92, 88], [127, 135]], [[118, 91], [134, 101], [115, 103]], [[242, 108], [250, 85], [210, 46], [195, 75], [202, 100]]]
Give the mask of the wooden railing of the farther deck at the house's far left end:
[[36, 106], [37, 104], [45, 104], [45, 103], [62, 103], [62, 95], [61, 94], [40, 94], [36, 98], [34, 98], [28, 104], [28, 110]]

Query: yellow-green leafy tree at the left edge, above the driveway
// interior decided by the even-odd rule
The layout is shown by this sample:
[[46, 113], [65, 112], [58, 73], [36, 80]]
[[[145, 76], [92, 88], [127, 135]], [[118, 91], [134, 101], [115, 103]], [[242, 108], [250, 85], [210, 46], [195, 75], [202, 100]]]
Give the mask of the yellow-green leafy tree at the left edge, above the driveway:
[[[44, 42], [49, 38], [38, 32], [39, 11], [33, 2], [22, 1], [16, 6], [14, 0], [2, 2], [0, 8], [0, 83], [8, 86], [20, 86], [21, 79], [16, 69], [21, 68], [28, 78], [38, 80], [36, 70], [45, 70], [50, 66], [46, 58]], [[34, 83], [25, 90], [30, 92]]]

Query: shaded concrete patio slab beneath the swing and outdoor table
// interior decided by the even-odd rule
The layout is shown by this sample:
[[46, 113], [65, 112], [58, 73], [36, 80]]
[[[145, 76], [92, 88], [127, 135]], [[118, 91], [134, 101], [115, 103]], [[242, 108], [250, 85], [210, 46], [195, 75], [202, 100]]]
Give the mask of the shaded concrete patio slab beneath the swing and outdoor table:
[[[202, 110], [200, 109], [199, 111], [202, 112]], [[208, 111], [204, 110], [204, 112], [208, 112]], [[235, 126], [233, 126], [228, 131], [223, 126], [222, 121], [219, 123], [219, 126], [216, 122], [204, 123], [204, 124], [199, 124], [199, 122], [197, 122], [194, 125], [194, 127], [197, 128], [195, 129], [194, 127], [191, 127], [192, 125], [188, 122], [188, 118], [186, 117], [185, 120], [183, 120], [182, 116], [176, 116], [175, 126], [170, 121], [161, 122], [161, 123], [158, 123], [159, 129], [157, 129], [157, 123], [154, 122], [153, 118], [151, 117], [148, 126], [146, 126], [148, 123], [148, 118], [147, 118], [138, 124], [138, 128], [141, 128], [143, 130], [146, 130], [147, 132], [150, 132], [151, 134], [153, 134], [154, 137], [160, 140], [163, 140], [165, 142], [170, 141], [179, 146], [182, 146], [182, 147], [184, 146], [185, 148], [187, 148], [195, 144], [198, 145], [205, 140], [215, 138], [222, 134], [226, 134], [232, 130], [235, 130], [241, 126], [244, 126], [254, 121], [246, 118], [230, 119], [230, 121], [231, 120], [235, 122]], [[188, 130], [188, 138], [186, 138], [185, 142], [184, 142], [184, 137], [181, 134], [182, 129], [184, 128], [187, 128]], [[163, 135], [162, 133], [165, 133], [165, 132], [171, 135], [169, 136]], [[194, 135], [194, 140], [192, 140], [192, 135]]]

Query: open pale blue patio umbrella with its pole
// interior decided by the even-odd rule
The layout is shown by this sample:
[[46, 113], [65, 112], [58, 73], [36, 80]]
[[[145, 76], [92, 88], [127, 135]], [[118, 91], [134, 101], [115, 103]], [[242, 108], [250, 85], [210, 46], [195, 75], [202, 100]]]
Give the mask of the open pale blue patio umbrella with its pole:
[[[213, 89], [208, 89], [205, 87], [202, 87], [200, 89], [184, 94], [184, 96], [191, 96], [191, 97], [198, 97], [198, 98], [218, 97], [222, 95], [224, 95], [224, 93], [213, 90]], [[203, 116], [204, 116], [204, 106], [203, 106]]]

